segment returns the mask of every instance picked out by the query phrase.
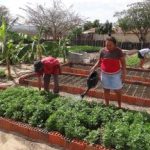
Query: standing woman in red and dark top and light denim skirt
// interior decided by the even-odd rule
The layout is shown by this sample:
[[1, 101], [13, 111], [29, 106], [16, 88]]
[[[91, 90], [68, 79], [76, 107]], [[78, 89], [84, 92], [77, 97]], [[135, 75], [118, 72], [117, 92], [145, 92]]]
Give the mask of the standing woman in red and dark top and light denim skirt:
[[105, 103], [109, 105], [110, 91], [113, 90], [116, 93], [118, 107], [121, 108], [122, 81], [126, 76], [126, 63], [122, 50], [116, 44], [114, 37], [106, 39], [105, 48], [100, 52], [100, 58], [91, 72], [100, 66]]

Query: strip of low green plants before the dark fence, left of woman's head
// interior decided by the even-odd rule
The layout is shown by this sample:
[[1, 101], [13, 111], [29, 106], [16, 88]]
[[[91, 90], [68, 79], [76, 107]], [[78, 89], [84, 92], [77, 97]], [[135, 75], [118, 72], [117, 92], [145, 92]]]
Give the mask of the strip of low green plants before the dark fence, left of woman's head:
[[88, 45], [73, 45], [68, 48], [72, 52], [99, 52], [101, 47], [97, 46], [88, 46]]

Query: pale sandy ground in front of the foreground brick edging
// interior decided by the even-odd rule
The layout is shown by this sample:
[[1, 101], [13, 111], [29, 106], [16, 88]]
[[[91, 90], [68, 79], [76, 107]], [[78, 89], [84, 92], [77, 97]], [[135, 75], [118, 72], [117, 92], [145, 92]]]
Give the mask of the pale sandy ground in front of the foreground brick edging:
[[47, 144], [27, 140], [25, 137], [0, 130], [0, 150], [60, 150]]

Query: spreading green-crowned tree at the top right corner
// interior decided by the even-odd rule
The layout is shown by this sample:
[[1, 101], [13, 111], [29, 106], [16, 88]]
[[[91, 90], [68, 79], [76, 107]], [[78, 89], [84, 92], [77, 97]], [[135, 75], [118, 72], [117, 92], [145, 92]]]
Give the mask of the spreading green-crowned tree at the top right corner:
[[127, 10], [115, 14], [118, 25], [124, 32], [132, 31], [140, 42], [146, 42], [150, 29], [150, 1], [133, 3]]

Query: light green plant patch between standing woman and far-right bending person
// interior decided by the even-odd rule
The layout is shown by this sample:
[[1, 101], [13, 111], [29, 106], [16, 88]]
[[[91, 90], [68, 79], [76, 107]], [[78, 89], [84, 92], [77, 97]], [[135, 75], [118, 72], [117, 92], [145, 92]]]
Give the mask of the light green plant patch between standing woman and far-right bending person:
[[139, 61], [140, 61], [140, 60], [139, 60], [137, 54], [128, 56], [128, 57], [126, 58], [127, 66], [130, 66], [130, 67], [136, 67], [136, 66], [139, 64]]

